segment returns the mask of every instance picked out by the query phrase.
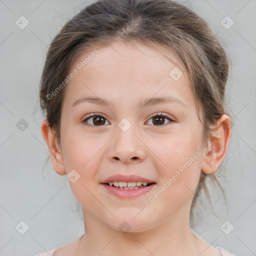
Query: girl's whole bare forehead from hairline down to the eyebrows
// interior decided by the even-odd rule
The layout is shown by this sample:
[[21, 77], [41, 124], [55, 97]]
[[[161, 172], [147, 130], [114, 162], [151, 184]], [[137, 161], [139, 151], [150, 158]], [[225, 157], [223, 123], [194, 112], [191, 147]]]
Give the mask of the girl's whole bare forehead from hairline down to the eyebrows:
[[[77, 73], [66, 88], [67, 100], [86, 93], [127, 98], [143, 94], [152, 97], [167, 91], [189, 97], [188, 77], [175, 55], [167, 53], [161, 45], [149, 47], [140, 42], [112, 42], [90, 47], [75, 59], [69, 69], [69, 73], [74, 69]], [[174, 73], [180, 77], [174, 79]]]

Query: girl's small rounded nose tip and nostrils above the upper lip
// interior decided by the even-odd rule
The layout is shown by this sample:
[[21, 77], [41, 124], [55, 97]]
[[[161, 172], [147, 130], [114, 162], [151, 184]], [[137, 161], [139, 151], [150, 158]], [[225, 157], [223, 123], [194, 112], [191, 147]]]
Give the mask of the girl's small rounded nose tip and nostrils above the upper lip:
[[107, 157], [110, 161], [122, 163], [138, 163], [145, 158], [145, 147], [132, 126], [122, 131], [117, 127], [117, 134], [108, 148]]

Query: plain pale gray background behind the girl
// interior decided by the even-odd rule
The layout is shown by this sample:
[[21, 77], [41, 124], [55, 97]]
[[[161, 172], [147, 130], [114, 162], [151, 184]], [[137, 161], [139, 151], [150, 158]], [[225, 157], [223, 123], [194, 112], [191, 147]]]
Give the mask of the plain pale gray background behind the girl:
[[[209, 23], [232, 60], [226, 93], [232, 137], [222, 164], [226, 176], [220, 178], [228, 212], [223, 199], [211, 211], [202, 198], [205, 209], [193, 230], [213, 246], [237, 255], [256, 255], [256, 0], [181, 2]], [[0, 0], [1, 256], [34, 255], [83, 234], [81, 212], [75, 212], [77, 204], [66, 176], [56, 174], [50, 160], [42, 172], [48, 150], [40, 131], [38, 85], [47, 45], [68, 18], [88, 3]], [[21, 15], [29, 21], [24, 29], [15, 24]], [[234, 21], [229, 29], [221, 24], [226, 15]], [[28, 123], [23, 131], [21, 118]], [[21, 220], [29, 226], [24, 234]], [[234, 226], [229, 234], [221, 230], [226, 220], [230, 222], [224, 224], [226, 232]]]

